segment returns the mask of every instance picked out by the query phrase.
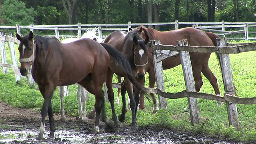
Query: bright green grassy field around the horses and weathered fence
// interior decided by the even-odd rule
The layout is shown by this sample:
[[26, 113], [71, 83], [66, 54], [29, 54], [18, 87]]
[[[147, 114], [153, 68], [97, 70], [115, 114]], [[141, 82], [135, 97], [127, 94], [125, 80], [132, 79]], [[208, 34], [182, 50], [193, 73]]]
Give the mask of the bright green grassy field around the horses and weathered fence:
[[[6, 46], [7, 47], [7, 46]], [[8, 48], [8, 47], [7, 47]], [[6, 50], [7, 55], [8, 49]], [[18, 56], [18, 51], [16, 51]], [[241, 54], [230, 54], [232, 73], [234, 77], [234, 85], [238, 89], [238, 96], [243, 98], [255, 97], [256, 94], [256, 52], [244, 52]], [[8, 63], [11, 60], [8, 57]], [[218, 66], [215, 54], [212, 54], [209, 61], [209, 67], [218, 79], [220, 92], [223, 96], [224, 86], [222, 82], [222, 74]], [[42, 108], [43, 98], [38, 87], [30, 86], [25, 78], [15, 82], [14, 74], [9, 69], [9, 74], [0, 72], [0, 100], [21, 108]], [[148, 77], [148, 75], [146, 75]], [[210, 82], [203, 77], [203, 86], [200, 92], [214, 94], [214, 90]], [[116, 80], [114, 80], [116, 82]], [[164, 70], [164, 82], [166, 92], [181, 92], [185, 90], [184, 77], [182, 74], [182, 66]], [[146, 78], [146, 86], [148, 78]], [[78, 102], [76, 100], [76, 91], [78, 86], [68, 86], [69, 96], [64, 97], [64, 109], [66, 114], [71, 116], [78, 115]], [[114, 89], [117, 95], [117, 89]], [[128, 97], [126, 97], [128, 98]], [[116, 99], [116, 98], [115, 98]], [[95, 98], [89, 94], [89, 100], [86, 103], [87, 111], [92, 110]], [[168, 109], [161, 109], [156, 114], [152, 114], [153, 104], [145, 101], [145, 110], [138, 110], [137, 122], [138, 126], [158, 125], [165, 128], [172, 128], [179, 132], [193, 132], [194, 134], [218, 135], [234, 141], [254, 141], [256, 142], [256, 105], [237, 104], [238, 118], [240, 130], [236, 131], [228, 125], [228, 115], [226, 104], [217, 106], [217, 102], [213, 100], [198, 99], [198, 108], [200, 111], [200, 124], [191, 126], [189, 110], [183, 110], [187, 106], [187, 98], [167, 100]], [[120, 105], [122, 104], [120, 99]], [[58, 88], [54, 92], [52, 98], [54, 112], [58, 113], [60, 108], [60, 100], [58, 96]], [[106, 104], [106, 112], [108, 118], [112, 117], [110, 104]], [[121, 113], [121, 106], [116, 106], [116, 113]], [[131, 112], [126, 115], [127, 124], [131, 123]]]

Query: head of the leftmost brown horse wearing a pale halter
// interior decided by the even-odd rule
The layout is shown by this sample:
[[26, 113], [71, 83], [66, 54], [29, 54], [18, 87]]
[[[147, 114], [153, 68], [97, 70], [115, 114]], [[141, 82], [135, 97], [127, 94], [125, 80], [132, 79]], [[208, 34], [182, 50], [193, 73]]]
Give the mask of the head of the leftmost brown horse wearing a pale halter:
[[35, 58], [36, 44], [34, 41], [34, 34], [32, 31], [24, 37], [16, 34], [16, 38], [20, 40], [20, 45], [18, 47], [20, 52], [20, 74], [26, 76]]

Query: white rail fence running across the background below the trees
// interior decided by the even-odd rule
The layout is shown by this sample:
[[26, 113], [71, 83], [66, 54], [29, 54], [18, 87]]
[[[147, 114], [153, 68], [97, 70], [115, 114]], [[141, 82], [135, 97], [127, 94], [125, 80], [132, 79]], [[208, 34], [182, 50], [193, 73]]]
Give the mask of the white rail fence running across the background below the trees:
[[[178, 29], [179, 26], [186, 27], [193, 26], [194, 28], [200, 28], [205, 31], [211, 31], [216, 32], [219, 36], [227, 36], [231, 34], [244, 34], [243, 38], [228, 38], [228, 39], [244, 39], [244, 40], [256, 40], [256, 37], [249, 37], [249, 34], [256, 34], [256, 32], [249, 32], [248, 27], [256, 27], [256, 22], [179, 22], [176, 20], [175, 22], [154, 22], [154, 23], [131, 23], [128, 22], [128, 24], [73, 24], [73, 25], [34, 25], [30, 24], [29, 26], [20, 26], [19, 24], [16, 24], [16, 26], [0, 26], [0, 28], [9, 28], [9, 29], [16, 29], [18, 34], [20, 33], [20, 29], [30, 29], [32, 31], [34, 30], [55, 30], [55, 36], [56, 38], [60, 37], [71, 37], [67, 35], [60, 35], [61, 30], [77, 30], [78, 37], [82, 36], [82, 31], [90, 30], [90, 29], [98, 29], [98, 34], [101, 38], [104, 38], [102, 36], [102, 31], [115, 31], [115, 30], [125, 30], [128, 31], [131, 27], [137, 27], [137, 26], [168, 26], [173, 25], [175, 29]], [[112, 28], [110, 28], [112, 27]], [[113, 28], [114, 27], [114, 28]], [[225, 28], [244, 28], [244, 30], [238, 30], [238, 31], [225, 31]], [[221, 30], [218, 30], [221, 29]]]

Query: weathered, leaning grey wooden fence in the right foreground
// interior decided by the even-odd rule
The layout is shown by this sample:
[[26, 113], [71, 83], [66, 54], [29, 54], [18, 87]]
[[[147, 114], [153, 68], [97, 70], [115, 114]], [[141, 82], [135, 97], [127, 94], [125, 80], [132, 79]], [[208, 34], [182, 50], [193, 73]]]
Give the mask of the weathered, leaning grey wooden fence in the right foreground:
[[[199, 110], [196, 98], [203, 98], [208, 100], [218, 100], [221, 102], [227, 103], [227, 111], [228, 111], [228, 120], [229, 124], [234, 126], [236, 130], [239, 129], [238, 123], [238, 114], [236, 103], [238, 104], [256, 104], [256, 97], [254, 98], [240, 98], [234, 96], [234, 85], [232, 81], [232, 70], [230, 66], [230, 57], [229, 54], [238, 54], [241, 52], [248, 52], [256, 50], [256, 43], [248, 43], [248, 44], [228, 44], [226, 38], [218, 38], [218, 46], [208, 46], [208, 47], [200, 47], [200, 46], [189, 46], [187, 40], [180, 40], [177, 42], [177, 46], [170, 45], [162, 45], [159, 40], [152, 40], [150, 48], [152, 54], [154, 54], [154, 67], [157, 71], [156, 75], [156, 93], [158, 94], [160, 107], [167, 107], [166, 98], [176, 99], [176, 98], [184, 98], [188, 97], [188, 103], [190, 107], [190, 117], [191, 123], [199, 124]], [[176, 53], [168, 54], [168, 56], [162, 57], [160, 54], [160, 50], [170, 50], [174, 52], [178, 52], [180, 54], [180, 59], [182, 63], [182, 70], [184, 74], [184, 80], [186, 85], [186, 90], [182, 92], [178, 92], [176, 94], [165, 92], [164, 91], [164, 77], [162, 73], [162, 62], [161, 60], [173, 56]], [[220, 55], [220, 65], [222, 70], [222, 77], [224, 82], [224, 97], [218, 96], [215, 94], [206, 94], [201, 92], [195, 92], [194, 88], [194, 78], [192, 74], [192, 67], [190, 62], [189, 52], [216, 52]], [[159, 55], [158, 57], [156, 55]], [[165, 55], [162, 53], [162, 55]], [[160, 60], [159, 60], [160, 58]]]

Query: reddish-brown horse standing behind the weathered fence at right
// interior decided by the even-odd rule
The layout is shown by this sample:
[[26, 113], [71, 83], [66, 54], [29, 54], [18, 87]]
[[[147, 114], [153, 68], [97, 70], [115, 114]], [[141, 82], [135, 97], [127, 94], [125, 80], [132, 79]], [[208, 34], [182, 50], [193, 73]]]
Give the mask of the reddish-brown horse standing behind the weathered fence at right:
[[[142, 26], [137, 27], [136, 29], [140, 29]], [[202, 30], [198, 30], [196, 28], [188, 27], [181, 28], [178, 30], [171, 30], [166, 32], [160, 32], [153, 28], [144, 28], [142, 38], [146, 38], [149, 36], [150, 40], [160, 40], [161, 44], [164, 45], [174, 45], [176, 46], [177, 40], [187, 39], [188, 44], [190, 46], [216, 46], [216, 38], [219, 38], [216, 34], [212, 32], [204, 32]], [[211, 53], [198, 53], [198, 52], [190, 52], [190, 60], [192, 64], [193, 76], [195, 80], [195, 88], [196, 91], [199, 92], [200, 88], [203, 85], [202, 74], [210, 81], [212, 87], [214, 88], [215, 94], [220, 95], [220, 90], [218, 88], [217, 79], [212, 74], [208, 66], [208, 61]], [[181, 64], [180, 56], [170, 57], [162, 61], [163, 69], [173, 68]], [[154, 71], [154, 64], [152, 59], [152, 53], [149, 53], [148, 57], [148, 70], [149, 74], [149, 86], [150, 88], [154, 88], [154, 84], [156, 82], [156, 76]], [[157, 102], [154, 94], [151, 94], [153, 98], [154, 104]], [[218, 105], [221, 105], [222, 102], [218, 102]], [[143, 109], [144, 99], [143, 95], [141, 95], [140, 99], [140, 109]]]

